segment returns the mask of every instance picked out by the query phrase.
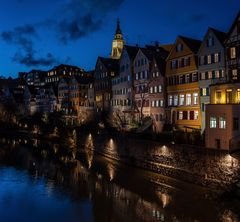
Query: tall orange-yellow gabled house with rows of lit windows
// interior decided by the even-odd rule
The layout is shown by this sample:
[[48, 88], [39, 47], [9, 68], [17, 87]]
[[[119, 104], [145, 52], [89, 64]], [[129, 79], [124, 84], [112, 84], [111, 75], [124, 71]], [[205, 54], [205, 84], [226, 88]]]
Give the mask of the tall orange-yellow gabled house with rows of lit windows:
[[197, 52], [201, 41], [177, 37], [167, 58], [166, 78], [170, 122], [177, 128], [201, 129]]

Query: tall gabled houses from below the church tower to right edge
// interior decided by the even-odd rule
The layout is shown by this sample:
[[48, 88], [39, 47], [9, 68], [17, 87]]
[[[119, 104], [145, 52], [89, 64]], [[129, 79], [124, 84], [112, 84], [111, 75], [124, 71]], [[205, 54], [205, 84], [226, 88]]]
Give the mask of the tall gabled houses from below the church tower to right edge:
[[[124, 45], [119, 25], [116, 33], [113, 48]], [[201, 41], [178, 36], [170, 45], [124, 45], [118, 58], [98, 58], [96, 107], [125, 122], [149, 116], [157, 132], [166, 124], [201, 131], [208, 147], [237, 147], [239, 41], [238, 13], [227, 33], [210, 27]]]

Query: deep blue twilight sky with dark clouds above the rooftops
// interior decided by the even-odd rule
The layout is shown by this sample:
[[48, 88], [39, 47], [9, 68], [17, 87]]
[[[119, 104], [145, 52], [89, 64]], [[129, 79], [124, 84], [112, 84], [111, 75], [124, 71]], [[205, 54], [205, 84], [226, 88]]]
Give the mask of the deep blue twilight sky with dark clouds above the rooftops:
[[109, 56], [120, 18], [127, 44], [202, 39], [228, 31], [239, 0], [0, 0], [0, 75], [66, 63], [93, 69]]

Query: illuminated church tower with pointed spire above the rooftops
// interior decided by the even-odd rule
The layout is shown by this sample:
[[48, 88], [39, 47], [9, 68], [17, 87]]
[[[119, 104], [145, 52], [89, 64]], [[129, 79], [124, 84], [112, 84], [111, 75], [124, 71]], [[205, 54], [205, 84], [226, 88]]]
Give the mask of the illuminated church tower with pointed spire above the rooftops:
[[120, 58], [122, 54], [123, 45], [124, 45], [124, 40], [123, 40], [122, 31], [120, 29], [120, 21], [118, 19], [116, 33], [112, 42], [112, 53], [111, 53], [112, 59]]

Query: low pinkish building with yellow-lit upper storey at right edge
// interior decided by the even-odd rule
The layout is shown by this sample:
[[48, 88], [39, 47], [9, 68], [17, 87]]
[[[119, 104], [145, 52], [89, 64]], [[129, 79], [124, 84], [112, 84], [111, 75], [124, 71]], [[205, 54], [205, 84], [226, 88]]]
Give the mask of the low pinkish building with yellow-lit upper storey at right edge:
[[234, 151], [240, 146], [240, 83], [212, 85], [211, 101], [206, 106], [205, 145]]

